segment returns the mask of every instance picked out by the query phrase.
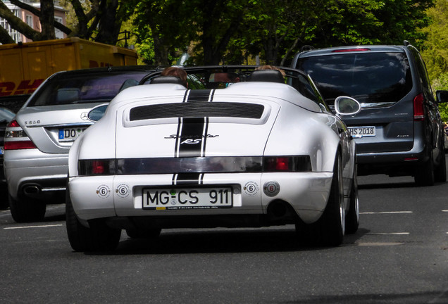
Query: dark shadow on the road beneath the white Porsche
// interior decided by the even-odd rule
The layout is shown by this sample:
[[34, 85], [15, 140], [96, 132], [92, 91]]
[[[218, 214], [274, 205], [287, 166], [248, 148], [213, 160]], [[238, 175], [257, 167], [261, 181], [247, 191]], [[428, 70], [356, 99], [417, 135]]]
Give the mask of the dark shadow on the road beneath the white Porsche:
[[[351, 245], [368, 233], [359, 229], [356, 234], [345, 236], [340, 247], [311, 246], [297, 239], [294, 226], [264, 229], [216, 229], [182, 232], [164, 230], [157, 239], [123, 239], [116, 251], [106, 255], [133, 254], [185, 254], [185, 253], [247, 253], [247, 252], [287, 252], [337, 250], [344, 245]], [[104, 253], [86, 253], [104, 254]]]

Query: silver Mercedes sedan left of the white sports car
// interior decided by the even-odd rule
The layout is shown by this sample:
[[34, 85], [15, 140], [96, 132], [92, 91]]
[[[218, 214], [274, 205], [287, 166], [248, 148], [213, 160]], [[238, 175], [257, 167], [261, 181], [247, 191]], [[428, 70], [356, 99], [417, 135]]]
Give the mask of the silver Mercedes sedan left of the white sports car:
[[16, 222], [42, 220], [46, 203], [63, 203], [68, 151], [94, 122], [92, 108], [154, 69], [125, 66], [57, 72], [45, 80], [6, 129], [4, 167]]

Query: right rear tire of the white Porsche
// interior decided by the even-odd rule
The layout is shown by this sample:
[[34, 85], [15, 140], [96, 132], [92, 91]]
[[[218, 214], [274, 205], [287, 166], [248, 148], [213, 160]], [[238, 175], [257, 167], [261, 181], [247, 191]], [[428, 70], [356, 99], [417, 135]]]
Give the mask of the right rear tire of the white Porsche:
[[342, 182], [342, 159], [337, 155], [330, 196], [323, 215], [313, 224], [296, 224], [296, 232], [301, 241], [321, 246], [339, 246], [344, 241], [345, 210]]

